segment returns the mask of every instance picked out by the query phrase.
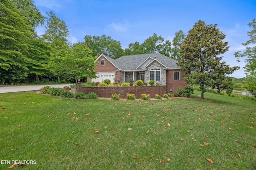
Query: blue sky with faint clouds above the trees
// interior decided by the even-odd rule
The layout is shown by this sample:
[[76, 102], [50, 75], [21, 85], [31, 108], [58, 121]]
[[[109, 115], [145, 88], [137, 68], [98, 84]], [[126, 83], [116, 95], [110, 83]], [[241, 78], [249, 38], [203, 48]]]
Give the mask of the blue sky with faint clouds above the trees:
[[[238, 63], [233, 54], [245, 49], [242, 43], [251, 31], [247, 24], [256, 18], [256, 0], [34, 0], [34, 4], [42, 15], [52, 11], [66, 23], [70, 43], [84, 41], [85, 35], [106, 35], [120, 41], [123, 49], [154, 33], [164, 41], [179, 30], [187, 35], [198, 20], [218, 24], [230, 46], [222, 61], [241, 67], [229, 76], [245, 77], [244, 59]], [[37, 28], [39, 35], [44, 31], [44, 26]]]

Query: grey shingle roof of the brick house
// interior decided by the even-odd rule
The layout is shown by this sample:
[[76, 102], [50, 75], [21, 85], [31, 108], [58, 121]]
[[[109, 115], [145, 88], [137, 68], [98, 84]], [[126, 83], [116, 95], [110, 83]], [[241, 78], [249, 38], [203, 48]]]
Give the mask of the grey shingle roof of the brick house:
[[138, 55], [125, 55], [116, 60], [111, 59], [111, 62], [118, 66], [120, 70], [139, 70], [136, 69], [140, 64], [142, 64], [148, 57], [152, 59], [157, 59], [162, 64], [164, 64], [169, 69], [180, 69], [180, 67], [176, 64], [177, 61], [171, 59], [170, 57], [166, 57], [160, 53], [150, 53], [150, 54], [138, 54]]

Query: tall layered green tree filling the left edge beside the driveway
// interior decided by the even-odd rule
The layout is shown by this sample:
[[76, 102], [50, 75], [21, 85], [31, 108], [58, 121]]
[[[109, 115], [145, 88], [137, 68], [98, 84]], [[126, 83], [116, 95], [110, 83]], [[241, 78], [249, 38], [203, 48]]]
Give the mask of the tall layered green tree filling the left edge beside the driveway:
[[28, 76], [30, 40], [43, 16], [32, 0], [0, 1], [0, 84], [12, 83]]

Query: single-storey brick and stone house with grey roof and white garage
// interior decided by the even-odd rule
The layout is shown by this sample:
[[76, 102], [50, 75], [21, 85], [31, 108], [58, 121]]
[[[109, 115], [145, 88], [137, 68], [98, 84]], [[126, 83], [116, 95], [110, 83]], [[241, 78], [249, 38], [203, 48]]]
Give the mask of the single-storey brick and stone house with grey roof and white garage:
[[126, 55], [118, 59], [112, 59], [101, 54], [95, 62], [94, 71], [98, 78], [88, 78], [88, 82], [103, 82], [110, 79], [111, 82], [129, 82], [142, 80], [166, 86], [166, 92], [176, 92], [178, 87], [185, 86], [182, 71], [176, 64], [177, 61], [160, 53]]

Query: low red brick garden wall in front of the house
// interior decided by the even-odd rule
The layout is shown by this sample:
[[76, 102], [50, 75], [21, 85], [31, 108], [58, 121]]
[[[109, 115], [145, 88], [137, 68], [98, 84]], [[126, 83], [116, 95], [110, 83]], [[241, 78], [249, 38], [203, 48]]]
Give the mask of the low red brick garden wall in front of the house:
[[77, 91], [90, 93], [95, 92], [99, 97], [110, 98], [112, 94], [120, 94], [120, 98], [126, 98], [126, 94], [134, 94], [136, 98], [140, 98], [140, 95], [150, 94], [151, 98], [154, 98], [156, 94], [166, 94], [166, 86], [111, 86], [111, 87], [82, 87], [82, 83], [77, 84]]

